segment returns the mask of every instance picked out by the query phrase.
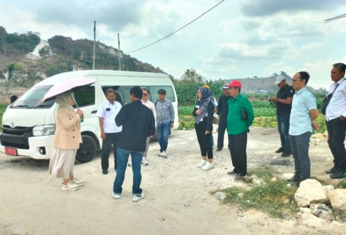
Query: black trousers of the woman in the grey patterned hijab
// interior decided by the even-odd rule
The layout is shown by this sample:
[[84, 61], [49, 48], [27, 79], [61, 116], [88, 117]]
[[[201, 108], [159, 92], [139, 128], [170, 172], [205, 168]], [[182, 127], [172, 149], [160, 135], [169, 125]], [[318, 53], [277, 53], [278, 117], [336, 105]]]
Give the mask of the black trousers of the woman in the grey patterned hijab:
[[199, 124], [195, 123], [195, 130], [199, 146], [201, 148], [201, 155], [205, 157], [208, 155], [208, 159], [213, 159], [213, 148], [212, 148], [212, 132], [206, 134], [207, 129], [207, 118], [205, 117]]

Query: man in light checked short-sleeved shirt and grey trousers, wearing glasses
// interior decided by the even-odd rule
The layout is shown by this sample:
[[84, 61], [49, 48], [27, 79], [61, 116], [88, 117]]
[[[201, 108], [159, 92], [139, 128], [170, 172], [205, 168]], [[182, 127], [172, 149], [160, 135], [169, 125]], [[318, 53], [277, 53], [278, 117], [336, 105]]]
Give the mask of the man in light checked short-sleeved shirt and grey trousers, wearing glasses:
[[296, 90], [293, 96], [290, 115], [289, 138], [295, 164], [295, 175], [290, 180], [299, 187], [301, 181], [310, 178], [309, 142], [312, 130], [318, 130], [314, 123], [318, 116], [316, 98], [306, 89], [310, 75], [297, 72], [292, 79], [292, 87]]

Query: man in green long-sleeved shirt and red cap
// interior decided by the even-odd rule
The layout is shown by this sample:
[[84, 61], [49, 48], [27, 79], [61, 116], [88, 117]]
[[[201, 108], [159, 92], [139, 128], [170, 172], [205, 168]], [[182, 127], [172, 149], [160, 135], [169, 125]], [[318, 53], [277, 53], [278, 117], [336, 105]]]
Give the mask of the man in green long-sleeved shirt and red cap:
[[235, 174], [234, 181], [241, 181], [247, 172], [246, 144], [249, 127], [254, 121], [254, 110], [250, 101], [240, 94], [242, 84], [239, 81], [233, 80], [228, 87], [231, 96], [227, 115], [228, 149], [234, 167], [228, 174]]

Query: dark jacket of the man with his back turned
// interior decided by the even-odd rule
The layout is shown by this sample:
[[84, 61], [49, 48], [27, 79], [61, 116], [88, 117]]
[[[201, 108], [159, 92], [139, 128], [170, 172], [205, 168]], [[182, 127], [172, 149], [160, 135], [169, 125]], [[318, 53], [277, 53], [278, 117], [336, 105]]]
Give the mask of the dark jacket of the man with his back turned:
[[117, 126], [123, 125], [118, 147], [130, 151], [145, 151], [147, 136], [155, 133], [153, 111], [142, 104], [133, 101], [120, 109], [115, 118]]

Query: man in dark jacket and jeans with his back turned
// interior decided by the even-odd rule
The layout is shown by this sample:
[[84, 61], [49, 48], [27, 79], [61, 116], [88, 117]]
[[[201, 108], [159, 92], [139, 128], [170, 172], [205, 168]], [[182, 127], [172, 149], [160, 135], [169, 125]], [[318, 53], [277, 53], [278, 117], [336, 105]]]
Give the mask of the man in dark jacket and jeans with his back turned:
[[140, 188], [142, 175], [140, 165], [145, 151], [147, 136], [155, 133], [155, 119], [153, 112], [142, 104], [143, 91], [139, 86], [130, 89], [130, 101], [122, 107], [115, 118], [117, 126], [123, 126], [117, 149], [117, 175], [114, 180], [112, 197], [121, 198], [125, 170], [131, 154], [133, 185], [132, 201], [144, 198]]

